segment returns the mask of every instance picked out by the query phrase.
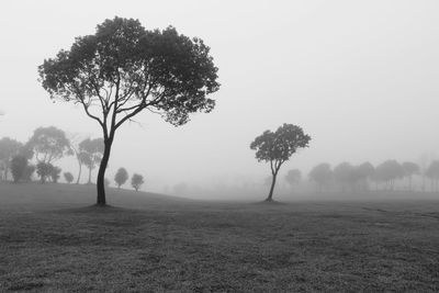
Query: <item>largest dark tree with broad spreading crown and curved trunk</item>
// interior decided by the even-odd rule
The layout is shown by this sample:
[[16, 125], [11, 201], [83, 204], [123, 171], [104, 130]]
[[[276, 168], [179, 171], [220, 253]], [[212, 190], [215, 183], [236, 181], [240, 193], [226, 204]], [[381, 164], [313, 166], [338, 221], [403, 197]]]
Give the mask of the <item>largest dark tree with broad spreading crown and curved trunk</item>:
[[50, 98], [81, 104], [102, 128], [97, 204], [105, 205], [105, 169], [115, 133], [126, 121], [149, 110], [179, 126], [190, 113], [213, 110], [215, 102], [206, 97], [219, 83], [209, 52], [202, 40], [171, 26], [147, 31], [138, 20], [116, 16], [38, 67]]

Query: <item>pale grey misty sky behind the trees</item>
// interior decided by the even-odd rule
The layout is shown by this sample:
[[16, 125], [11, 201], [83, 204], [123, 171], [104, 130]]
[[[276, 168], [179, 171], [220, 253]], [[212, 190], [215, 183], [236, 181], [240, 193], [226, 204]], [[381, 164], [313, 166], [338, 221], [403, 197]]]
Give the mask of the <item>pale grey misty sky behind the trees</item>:
[[[116, 133], [111, 179], [121, 166], [143, 173], [145, 189], [263, 177], [269, 167], [249, 144], [282, 123], [313, 138], [282, 174], [320, 161], [418, 161], [439, 149], [439, 1], [16, 0], [0, 13], [0, 136], [21, 142], [49, 125], [101, 135], [80, 106], [49, 100], [37, 66], [104, 19], [173, 25], [211, 47], [222, 83], [214, 112], [178, 128], [137, 115]], [[61, 165], [76, 174], [72, 159]]]

